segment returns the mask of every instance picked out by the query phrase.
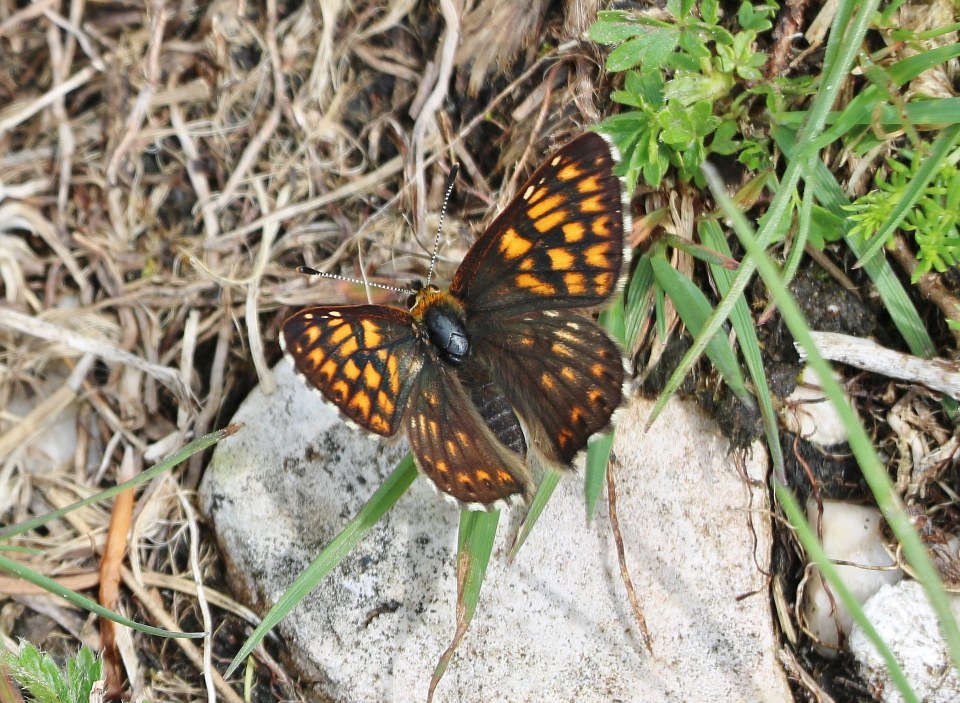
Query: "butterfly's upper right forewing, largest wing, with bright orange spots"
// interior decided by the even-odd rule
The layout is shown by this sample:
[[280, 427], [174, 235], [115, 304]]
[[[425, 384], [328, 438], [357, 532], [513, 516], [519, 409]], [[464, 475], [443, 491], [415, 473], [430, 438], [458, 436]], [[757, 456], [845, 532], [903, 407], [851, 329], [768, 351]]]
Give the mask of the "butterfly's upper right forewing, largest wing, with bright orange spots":
[[613, 294], [629, 229], [615, 148], [599, 134], [566, 144], [530, 177], [467, 252], [450, 292], [469, 314], [598, 305]]

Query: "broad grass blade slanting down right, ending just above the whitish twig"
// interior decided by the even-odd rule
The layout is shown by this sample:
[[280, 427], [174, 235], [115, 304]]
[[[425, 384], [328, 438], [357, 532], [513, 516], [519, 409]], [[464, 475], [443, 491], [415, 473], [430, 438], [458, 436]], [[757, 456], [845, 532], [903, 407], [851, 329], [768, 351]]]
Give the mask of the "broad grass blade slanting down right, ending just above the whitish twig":
[[[788, 129], [777, 128], [772, 131], [772, 135], [777, 146], [788, 158], [796, 155], [797, 144], [800, 143], [797, 141], [796, 133]], [[813, 170], [806, 176], [808, 187], [813, 188], [814, 197], [821, 207], [837, 218], [838, 226], [845, 228], [843, 239], [846, 245], [850, 247], [854, 254], [862, 257], [866, 251], [864, 242], [860, 237], [847, 234], [851, 227], [848, 220], [849, 213], [845, 209], [850, 204], [849, 198], [844, 194], [843, 188], [840, 187], [830, 169], [820, 159], [812, 160], [812, 165]], [[936, 347], [933, 340], [930, 339], [917, 309], [886, 257], [870, 257], [865, 261], [863, 269], [877, 287], [877, 293], [883, 301], [884, 308], [890, 314], [897, 330], [903, 335], [910, 351], [924, 358], [935, 356]]]

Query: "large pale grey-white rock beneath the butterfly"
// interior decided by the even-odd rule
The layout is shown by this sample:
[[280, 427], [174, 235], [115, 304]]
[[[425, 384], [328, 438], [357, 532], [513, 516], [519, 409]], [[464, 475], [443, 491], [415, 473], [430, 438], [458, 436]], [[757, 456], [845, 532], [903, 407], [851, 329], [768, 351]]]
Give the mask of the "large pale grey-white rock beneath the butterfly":
[[[355, 514], [402, 449], [348, 431], [277, 368], [251, 394], [201, 489], [234, 577], [261, 610]], [[653, 637], [644, 649], [605, 503], [584, 524], [583, 480], [567, 476], [513, 566], [498, 545], [470, 630], [438, 701], [790, 701], [775, 661], [768, 505], [733, 467], [712, 422], [650, 406], [619, 425], [615, 452], [627, 561]], [[748, 473], [762, 479], [756, 449]], [[519, 516], [514, 511], [511, 518]], [[419, 478], [280, 625], [305, 671], [336, 701], [424, 700], [455, 625], [458, 512]], [[752, 526], [751, 526], [752, 523]]]

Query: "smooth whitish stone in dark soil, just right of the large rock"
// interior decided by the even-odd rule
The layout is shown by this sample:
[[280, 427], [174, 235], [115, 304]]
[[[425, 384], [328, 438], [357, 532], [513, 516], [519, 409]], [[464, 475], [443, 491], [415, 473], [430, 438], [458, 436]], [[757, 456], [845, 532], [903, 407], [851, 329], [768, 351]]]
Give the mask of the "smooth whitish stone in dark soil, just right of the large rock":
[[[807, 521], [816, 529], [817, 504], [812, 500], [807, 502]], [[827, 556], [850, 562], [850, 565], [838, 564], [836, 568], [858, 602], [863, 603], [882, 586], [903, 578], [900, 569], [869, 568], [894, 566], [893, 558], [884, 548], [883, 535], [880, 533], [881, 516], [877, 508], [825, 500], [819, 524]], [[818, 649], [825, 656], [835, 656], [840, 643], [839, 635], [842, 633], [845, 639], [850, 634], [850, 611], [838, 597], [828, 593], [820, 570], [816, 567], [811, 571], [803, 596], [807, 627], [820, 642], [827, 645]]]

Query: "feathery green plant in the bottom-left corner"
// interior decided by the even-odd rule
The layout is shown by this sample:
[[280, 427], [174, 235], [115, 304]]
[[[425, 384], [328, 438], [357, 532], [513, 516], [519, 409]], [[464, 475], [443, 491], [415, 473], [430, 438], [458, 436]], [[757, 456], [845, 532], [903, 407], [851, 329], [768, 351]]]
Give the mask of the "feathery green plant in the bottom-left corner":
[[89, 703], [102, 676], [102, 662], [86, 647], [61, 669], [53, 657], [30, 642], [21, 642], [16, 654], [6, 653], [3, 663], [14, 680], [36, 703]]

